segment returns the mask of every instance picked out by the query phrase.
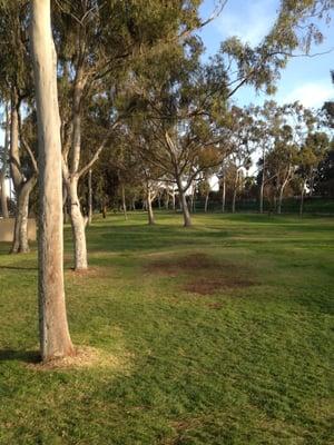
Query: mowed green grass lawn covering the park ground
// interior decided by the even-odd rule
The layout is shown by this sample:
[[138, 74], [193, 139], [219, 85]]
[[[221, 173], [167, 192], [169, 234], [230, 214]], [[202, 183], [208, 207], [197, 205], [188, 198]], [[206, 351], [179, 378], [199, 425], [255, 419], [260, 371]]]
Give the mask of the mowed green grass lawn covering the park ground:
[[66, 228], [70, 330], [106, 358], [40, 370], [36, 253], [0, 245], [1, 444], [334, 443], [333, 219], [110, 215], [88, 246], [75, 274]]

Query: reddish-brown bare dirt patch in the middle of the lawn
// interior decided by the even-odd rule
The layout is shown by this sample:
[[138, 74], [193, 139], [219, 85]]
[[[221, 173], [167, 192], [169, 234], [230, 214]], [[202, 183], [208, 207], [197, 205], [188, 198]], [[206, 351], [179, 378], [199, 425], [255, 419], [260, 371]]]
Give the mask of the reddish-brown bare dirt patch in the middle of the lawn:
[[254, 273], [229, 261], [217, 260], [207, 254], [194, 253], [183, 257], [157, 259], [145, 266], [146, 274], [177, 277], [186, 283], [181, 288], [198, 295], [212, 295], [222, 289], [243, 288], [256, 285]]

